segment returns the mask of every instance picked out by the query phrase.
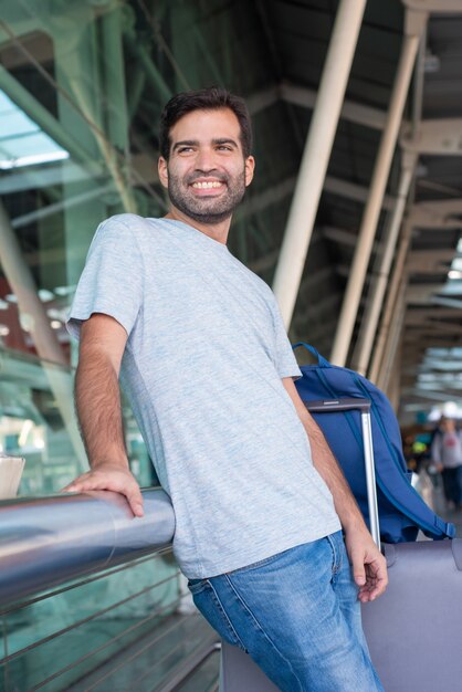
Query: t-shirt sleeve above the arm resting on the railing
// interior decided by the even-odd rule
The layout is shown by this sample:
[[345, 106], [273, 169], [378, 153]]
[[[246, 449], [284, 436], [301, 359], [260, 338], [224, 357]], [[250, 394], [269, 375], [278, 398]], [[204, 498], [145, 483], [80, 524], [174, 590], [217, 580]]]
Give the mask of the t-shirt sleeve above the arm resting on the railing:
[[117, 218], [101, 223], [88, 250], [66, 327], [78, 338], [93, 313], [117, 319], [129, 335], [143, 301], [143, 256], [130, 228]]

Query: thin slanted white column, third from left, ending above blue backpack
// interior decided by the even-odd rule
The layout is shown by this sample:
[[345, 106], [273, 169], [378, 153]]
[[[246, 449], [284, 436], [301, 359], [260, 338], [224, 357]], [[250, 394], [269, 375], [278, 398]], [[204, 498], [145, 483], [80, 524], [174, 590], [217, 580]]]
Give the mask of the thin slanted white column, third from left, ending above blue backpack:
[[406, 153], [403, 154], [397, 203], [391, 216], [385, 251], [378, 270], [374, 294], [367, 305], [366, 313], [363, 319], [363, 324], [365, 326], [359, 337], [360, 340], [358, 354], [355, 358], [355, 369], [361, 373], [361, 375], [366, 374], [367, 367], [369, 365], [374, 338], [376, 336], [377, 324], [384, 304], [384, 296], [387, 290], [387, 282], [390, 274], [391, 262], [395, 255], [399, 229], [401, 228], [402, 223], [402, 217], [405, 213], [409, 188], [416, 168], [416, 161], [417, 157], [414, 155], [407, 155]]

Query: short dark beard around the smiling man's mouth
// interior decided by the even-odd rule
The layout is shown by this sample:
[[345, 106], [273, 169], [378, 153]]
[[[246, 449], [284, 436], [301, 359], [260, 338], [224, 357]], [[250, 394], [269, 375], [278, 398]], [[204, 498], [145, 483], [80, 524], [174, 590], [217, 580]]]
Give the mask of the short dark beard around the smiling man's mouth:
[[[209, 175], [212, 176], [213, 171], [209, 171]], [[189, 185], [191, 185], [196, 178], [203, 177], [207, 176], [201, 174], [200, 176], [196, 175], [191, 177], [186, 181], [186, 185], [188, 186], [187, 189], [189, 189]], [[245, 169], [243, 169], [242, 174], [234, 179], [229, 176], [224, 176], [223, 174], [214, 174], [213, 177], [217, 177], [219, 180], [227, 184], [227, 195], [218, 200], [214, 200], [213, 198], [195, 198], [192, 195], [188, 195], [183, 190], [185, 181], [169, 172], [168, 196], [174, 207], [199, 223], [213, 224], [229, 219], [244, 197]]]

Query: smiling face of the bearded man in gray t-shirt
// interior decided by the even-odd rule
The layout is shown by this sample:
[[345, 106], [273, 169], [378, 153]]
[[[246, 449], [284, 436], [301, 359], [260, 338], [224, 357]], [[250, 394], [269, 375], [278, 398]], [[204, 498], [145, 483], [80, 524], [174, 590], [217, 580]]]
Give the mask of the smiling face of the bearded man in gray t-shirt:
[[170, 130], [170, 158], [159, 159], [159, 177], [170, 201], [201, 223], [230, 218], [253, 178], [244, 159], [240, 125], [229, 108], [193, 111]]

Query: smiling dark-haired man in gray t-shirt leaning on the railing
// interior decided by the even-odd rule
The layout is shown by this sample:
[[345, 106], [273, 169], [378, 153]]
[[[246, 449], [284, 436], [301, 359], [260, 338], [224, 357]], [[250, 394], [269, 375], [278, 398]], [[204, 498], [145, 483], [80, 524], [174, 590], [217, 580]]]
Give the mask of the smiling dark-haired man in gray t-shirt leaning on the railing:
[[169, 213], [105, 221], [71, 311], [92, 470], [67, 490], [117, 491], [143, 514], [120, 373], [174, 504], [175, 554], [210, 623], [283, 691], [382, 690], [358, 601], [385, 590], [385, 559], [297, 396], [271, 290], [225, 245], [253, 171], [240, 98], [209, 88], [167, 104]]

